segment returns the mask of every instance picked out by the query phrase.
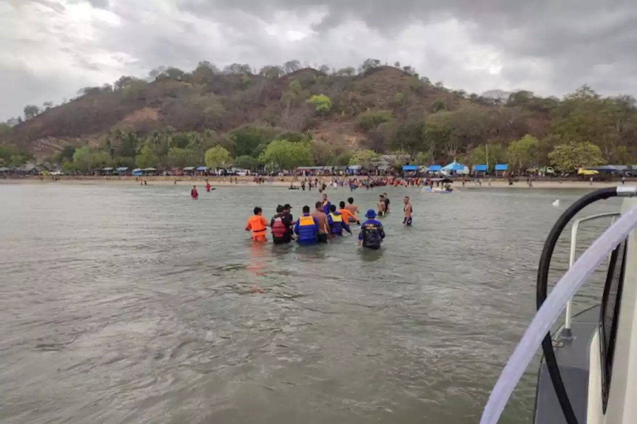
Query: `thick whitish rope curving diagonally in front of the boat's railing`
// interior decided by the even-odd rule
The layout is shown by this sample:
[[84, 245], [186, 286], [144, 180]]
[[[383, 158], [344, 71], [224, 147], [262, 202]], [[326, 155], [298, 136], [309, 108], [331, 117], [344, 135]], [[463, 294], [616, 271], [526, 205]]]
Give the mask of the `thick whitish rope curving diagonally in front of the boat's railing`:
[[531, 324], [515, 347], [513, 355], [506, 362], [505, 369], [489, 396], [480, 424], [497, 424], [515, 386], [533, 360], [533, 355], [540, 347], [542, 339], [562, 313], [568, 299], [573, 297], [594, 269], [608, 258], [608, 253], [626, 239], [635, 227], [637, 227], [637, 207], [624, 213], [617, 222], [608, 227], [578, 258], [575, 265], [559, 279], [547, 300], [533, 317]]

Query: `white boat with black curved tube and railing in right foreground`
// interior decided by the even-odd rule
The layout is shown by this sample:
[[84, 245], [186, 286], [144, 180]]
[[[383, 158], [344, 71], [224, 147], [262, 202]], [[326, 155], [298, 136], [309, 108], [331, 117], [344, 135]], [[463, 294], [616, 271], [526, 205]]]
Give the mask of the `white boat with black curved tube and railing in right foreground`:
[[[534, 424], [637, 423], [637, 187], [601, 188], [575, 201], [548, 234], [538, 266], [537, 312], [494, 386], [480, 424], [496, 424], [540, 348]], [[571, 224], [568, 271], [548, 293], [555, 246], [589, 204], [624, 197], [620, 210], [578, 216]], [[577, 258], [580, 224], [608, 228]], [[597, 303], [573, 313], [571, 299], [595, 269], [606, 278]], [[566, 309], [564, 323], [552, 325]], [[521, 422], [527, 422], [522, 420]]]

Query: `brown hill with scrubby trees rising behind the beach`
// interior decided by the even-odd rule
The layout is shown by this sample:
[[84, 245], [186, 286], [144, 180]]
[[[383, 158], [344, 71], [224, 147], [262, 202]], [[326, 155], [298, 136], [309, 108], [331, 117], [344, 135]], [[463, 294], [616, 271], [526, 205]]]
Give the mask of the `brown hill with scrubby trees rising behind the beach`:
[[[487, 144], [490, 155], [501, 156], [492, 160], [503, 160], [512, 153], [510, 143], [526, 134], [537, 140], [534, 152], [525, 153], [532, 157], [507, 157], [520, 167], [549, 162], [559, 142], [592, 141], [608, 162], [637, 153], [630, 97], [603, 98], [589, 87], [562, 100], [527, 91], [503, 100], [505, 92], [491, 92], [496, 98], [448, 90], [410, 67], [374, 59], [359, 71], [331, 72], [294, 60], [259, 73], [248, 65], [220, 71], [201, 62], [192, 72], [162, 67], [147, 80], [122, 76], [113, 85], [86, 87], [59, 106], [26, 106], [24, 119], [0, 127], [0, 141], [40, 158], [64, 159], [66, 152], [68, 160], [73, 149], [64, 146], [90, 146], [117, 164], [132, 163], [150, 146], [152, 159], [166, 166], [201, 163], [205, 150], [217, 145], [256, 159], [275, 138], [311, 140], [313, 161], [334, 164], [361, 148], [420, 153], [422, 161], [476, 161], [476, 148]], [[186, 152], [169, 160], [173, 148]]]

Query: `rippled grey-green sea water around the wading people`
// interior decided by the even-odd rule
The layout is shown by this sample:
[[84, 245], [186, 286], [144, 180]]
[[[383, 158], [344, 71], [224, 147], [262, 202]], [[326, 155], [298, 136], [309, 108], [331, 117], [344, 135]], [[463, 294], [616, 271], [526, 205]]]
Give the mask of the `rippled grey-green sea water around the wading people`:
[[[297, 216], [316, 191], [0, 185], [0, 420], [476, 423], [533, 315], [548, 230], [582, 192], [385, 191], [383, 250], [361, 252], [248, 241], [255, 205]], [[501, 422], [530, 422], [535, 371]]]

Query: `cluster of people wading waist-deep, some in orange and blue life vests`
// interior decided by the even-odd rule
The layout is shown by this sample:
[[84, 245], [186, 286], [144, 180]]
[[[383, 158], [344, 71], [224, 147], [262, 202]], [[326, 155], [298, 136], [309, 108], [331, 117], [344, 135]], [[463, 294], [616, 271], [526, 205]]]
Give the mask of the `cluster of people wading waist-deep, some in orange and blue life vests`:
[[[408, 196], [404, 197], [403, 202], [403, 225], [410, 226], [412, 225], [412, 204]], [[323, 194], [322, 201], [316, 202], [314, 211], [310, 211], [310, 206], [303, 206], [303, 215], [296, 221], [292, 216], [290, 204], [277, 206], [276, 215], [270, 222], [262, 216], [263, 210], [257, 206], [254, 208], [254, 215], [248, 218], [245, 230], [251, 231], [252, 240], [257, 242], [268, 241], [266, 236], [267, 229], [270, 227], [272, 241], [275, 244], [296, 240], [298, 244], [310, 245], [327, 243], [334, 237], [343, 237], [344, 232], [354, 235], [350, 224], [355, 223], [361, 229], [357, 245], [378, 250], [385, 239], [385, 230], [383, 224], [376, 220], [376, 216], [385, 216], [387, 212], [389, 212], [389, 198], [386, 193], [380, 196], [378, 213], [374, 209], [369, 209], [365, 213], [366, 220], [362, 223], [357, 218], [360, 209], [354, 204], [352, 197], [347, 199], [347, 204], [339, 202], [339, 207], [336, 208], [336, 205], [331, 204], [327, 199], [327, 194]]]

